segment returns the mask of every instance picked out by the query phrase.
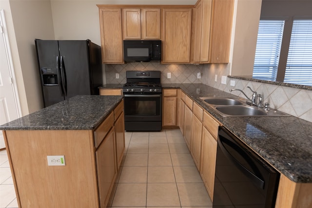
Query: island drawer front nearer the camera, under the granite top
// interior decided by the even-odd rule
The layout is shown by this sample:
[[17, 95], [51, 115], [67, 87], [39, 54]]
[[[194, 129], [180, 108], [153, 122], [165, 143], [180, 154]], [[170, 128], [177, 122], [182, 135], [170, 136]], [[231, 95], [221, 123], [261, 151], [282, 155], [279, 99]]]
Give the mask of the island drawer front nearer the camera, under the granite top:
[[94, 131], [94, 146], [98, 148], [111, 127], [114, 126], [114, 113], [110, 113], [107, 118]]

